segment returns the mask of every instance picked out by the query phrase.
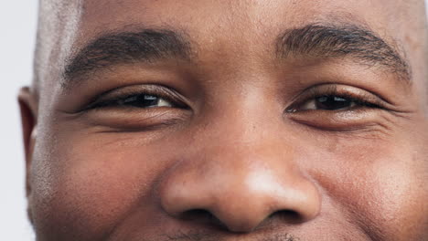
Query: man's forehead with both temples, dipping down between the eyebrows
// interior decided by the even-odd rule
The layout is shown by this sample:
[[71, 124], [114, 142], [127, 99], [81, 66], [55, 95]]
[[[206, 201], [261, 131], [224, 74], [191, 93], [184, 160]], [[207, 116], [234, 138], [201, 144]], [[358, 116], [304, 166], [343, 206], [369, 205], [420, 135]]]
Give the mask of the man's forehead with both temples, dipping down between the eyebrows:
[[[418, 39], [423, 33], [422, 25], [412, 24], [420, 15], [411, 14], [422, 0], [55, 0], [50, 3], [54, 2], [61, 4], [42, 5], [41, 13], [51, 16], [51, 10], [56, 9], [58, 21], [43, 16], [48, 31], [40, 31], [45, 38], [42, 41], [54, 45], [40, 48], [40, 52], [43, 61], [57, 62], [59, 68], [43, 69], [50, 75], [40, 79], [61, 78], [61, 66], [73, 54], [109, 32], [142, 28], [182, 30], [198, 50], [203, 48], [202, 54], [212, 58], [228, 54], [233, 60], [242, 53], [250, 56], [249, 53], [257, 52], [251, 58], [259, 58], [257, 55], [266, 53], [261, 49], [272, 51], [267, 48], [272, 48], [284, 29], [318, 22], [367, 26], [387, 42], [402, 44], [411, 67], [417, 68], [417, 71], [412, 69], [416, 72], [415, 79], [422, 79], [424, 72], [421, 54], [424, 44]], [[52, 27], [51, 22], [57, 22], [56, 26]]]

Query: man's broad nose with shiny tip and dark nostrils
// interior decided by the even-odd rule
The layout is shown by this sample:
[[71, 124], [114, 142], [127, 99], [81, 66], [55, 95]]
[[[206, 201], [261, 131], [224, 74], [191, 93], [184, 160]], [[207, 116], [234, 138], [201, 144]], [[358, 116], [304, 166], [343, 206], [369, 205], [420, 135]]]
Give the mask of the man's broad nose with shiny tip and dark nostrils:
[[187, 155], [159, 186], [166, 213], [233, 233], [251, 233], [274, 215], [292, 224], [315, 218], [320, 195], [294, 164], [292, 148], [262, 143], [220, 144]]

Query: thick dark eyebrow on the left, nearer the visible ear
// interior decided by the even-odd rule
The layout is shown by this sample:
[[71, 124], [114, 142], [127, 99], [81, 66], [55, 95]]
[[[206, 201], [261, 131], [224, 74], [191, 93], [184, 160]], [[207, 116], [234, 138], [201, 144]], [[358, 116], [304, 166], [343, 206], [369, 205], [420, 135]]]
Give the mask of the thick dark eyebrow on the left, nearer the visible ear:
[[66, 61], [63, 86], [101, 68], [164, 58], [190, 58], [190, 45], [183, 35], [167, 29], [105, 34]]

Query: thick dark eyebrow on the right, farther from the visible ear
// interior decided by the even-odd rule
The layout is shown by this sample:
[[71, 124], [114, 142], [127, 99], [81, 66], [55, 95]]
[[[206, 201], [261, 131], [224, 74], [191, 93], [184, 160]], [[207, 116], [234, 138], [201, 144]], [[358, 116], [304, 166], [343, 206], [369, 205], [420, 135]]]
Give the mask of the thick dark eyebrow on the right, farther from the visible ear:
[[368, 66], [380, 66], [410, 82], [411, 69], [399, 50], [362, 26], [310, 24], [289, 29], [277, 40], [280, 58], [353, 58]]

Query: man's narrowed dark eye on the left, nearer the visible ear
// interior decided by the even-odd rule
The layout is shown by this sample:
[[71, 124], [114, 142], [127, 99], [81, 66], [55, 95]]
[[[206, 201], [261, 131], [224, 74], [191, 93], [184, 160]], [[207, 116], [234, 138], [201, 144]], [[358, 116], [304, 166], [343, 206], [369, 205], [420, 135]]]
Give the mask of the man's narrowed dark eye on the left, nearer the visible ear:
[[136, 85], [103, 92], [79, 113], [94, 126], [113, 131], [146, 131], [185, 121], [191, 110], [174, 89]]

